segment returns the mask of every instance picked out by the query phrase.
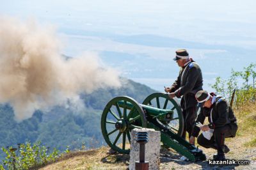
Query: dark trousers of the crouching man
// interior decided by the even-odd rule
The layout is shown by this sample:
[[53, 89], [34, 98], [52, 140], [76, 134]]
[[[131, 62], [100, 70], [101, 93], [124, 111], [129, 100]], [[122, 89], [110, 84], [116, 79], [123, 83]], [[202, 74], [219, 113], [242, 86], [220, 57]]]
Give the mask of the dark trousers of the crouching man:
[[225, 138], [235, 137], [236, 131], [236, 123], [229, 123], [223, 127], [214, 128], [214, 132], [210, 140], [206, 139], [203, 134], [200, 134], [197, 138], [197, 143], [204, 148], [214, 148], [218, 153], [224, 153]]

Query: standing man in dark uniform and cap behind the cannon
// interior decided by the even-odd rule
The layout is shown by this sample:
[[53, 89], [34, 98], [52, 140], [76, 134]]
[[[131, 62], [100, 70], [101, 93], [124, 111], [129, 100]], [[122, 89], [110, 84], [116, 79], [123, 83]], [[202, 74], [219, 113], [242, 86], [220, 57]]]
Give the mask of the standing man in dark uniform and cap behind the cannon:
[[191, 136], [193, 125], [196, 119], [197, 101], [195, 94], [202, 90], [203, 78], [200, 66], [189, 58], [187, 50], [180, 49], [176, 51], [176, 56], [173, 58], [180, 66], [179, 76], [173, 82], [170, 88], [165, 88], [164, 91], [169, 92], [170, 98], [182, 97], [180, 107], [184, 117], [184, 131], [182, 137], [186, 139], [186, 132]]

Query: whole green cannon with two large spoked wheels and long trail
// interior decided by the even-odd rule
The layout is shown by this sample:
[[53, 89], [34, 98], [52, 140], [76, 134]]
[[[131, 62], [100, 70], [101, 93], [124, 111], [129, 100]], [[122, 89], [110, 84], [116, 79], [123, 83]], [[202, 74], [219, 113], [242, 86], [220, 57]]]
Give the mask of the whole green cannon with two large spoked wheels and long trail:
[[153, 93], [142, 104], [131, 97], [111, 99], [101, 117], [101, 130], [106, 143], [119, 153], [129, 153], [131, 130], [154, 128], [161, 132], [164, 146], [196, 162], [205, 160], [202, 150], [184, 140], [184, 119], [180, 105], [166, 93]]

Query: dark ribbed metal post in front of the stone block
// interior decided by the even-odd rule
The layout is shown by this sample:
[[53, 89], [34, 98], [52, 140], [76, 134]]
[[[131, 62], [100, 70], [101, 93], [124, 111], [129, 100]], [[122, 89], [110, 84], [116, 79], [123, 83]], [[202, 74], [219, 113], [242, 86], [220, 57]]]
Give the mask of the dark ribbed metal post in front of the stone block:
[[137, 132], [136, 142], [140, 144], [140, 161], [135, 162], [135, 169], [148, 170], [148, 161], [145, 161], [145, 144], [148, 143], [148, 133]]

